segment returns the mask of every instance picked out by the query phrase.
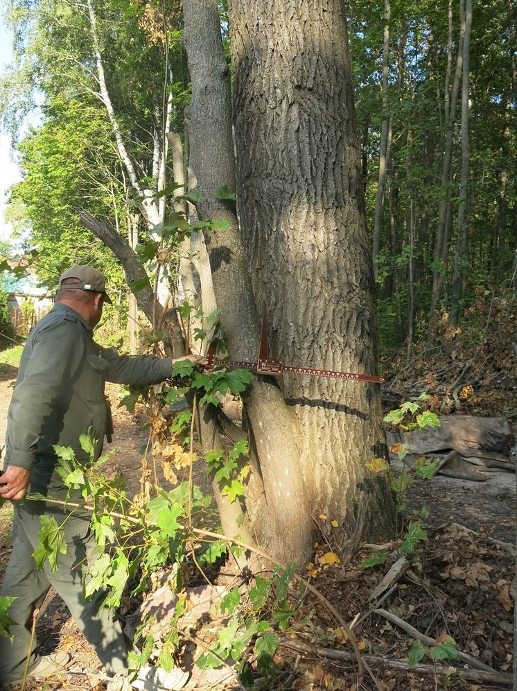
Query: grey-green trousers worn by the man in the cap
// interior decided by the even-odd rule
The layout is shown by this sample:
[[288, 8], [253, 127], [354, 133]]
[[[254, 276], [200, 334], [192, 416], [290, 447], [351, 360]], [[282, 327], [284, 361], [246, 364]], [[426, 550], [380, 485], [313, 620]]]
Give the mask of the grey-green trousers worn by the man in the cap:
[[[40, 492], [64, 500], [67, 487], [53, 472], [53, 464], [36, 459], [30, 475], [29, 492]], [[80, 496], [71, 502], [83, 503]], [[64, 600], [73, 620], [94, 649], [107, 674], [128, 669], [128, 649], [132, 645], [125, 638], [114, 612], [107, 608], [99, 611], [105, 592], [97, 591], [85, 599], [82, 588], [82, 570], [95, 561], [97, 547], [90, 527], [91, 514], [85, 509], [64, 509], [43, 501], [24, 500], [14, 503], [12, 554], [8, 563], [1, 595], [16, 597], [8, 609], [13, 624], [10, 636], [0, 636], [0, 688], [3, 683], [18, 681], [24, 675], [27, 657], [28, 669], [37, 665], [37, 640], [32, 638], [33, 613], [40, 608], [51, 586]], [[37, 568], [33, 552], [40, 544], [40, 516], [55, 518], [64, 530], [66, 554], [59, 555], [59, 568], [51, 571], [49, 560], [43, 570]]]

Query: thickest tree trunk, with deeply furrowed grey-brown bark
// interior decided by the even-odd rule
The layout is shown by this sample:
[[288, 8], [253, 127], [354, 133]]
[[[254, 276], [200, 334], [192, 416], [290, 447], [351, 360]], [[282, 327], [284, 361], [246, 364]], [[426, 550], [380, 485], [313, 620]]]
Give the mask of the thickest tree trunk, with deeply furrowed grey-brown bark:
[[[229, 17], [240, 220], [272, 357], [374, 373], [374, 274], [343, 4], [231, 0]], [[344, 545], [364, 492], [365, 534], [387, 536], [391, 493], [383, 479], [372, 491], [365, 469], [385, 448], [378, 386], [298, 375], [280, 385], [313, 517], [336, 518]]]

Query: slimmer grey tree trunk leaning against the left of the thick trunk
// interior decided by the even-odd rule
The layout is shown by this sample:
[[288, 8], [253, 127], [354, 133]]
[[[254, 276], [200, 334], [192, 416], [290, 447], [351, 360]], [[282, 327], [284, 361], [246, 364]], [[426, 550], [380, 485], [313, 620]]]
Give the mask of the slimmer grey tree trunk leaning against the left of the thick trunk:
[[[205, 235], [213, 288], [229, 356], [256, 361], [259, 317], [236, 207], [214, 195], [222, 185], [229, 191], [235, 189], [229, 70], [222, 50], [218, 3], [184, 0], [183, 7], [184, 45], [192, 79], [192, 99], [186, 108], [190, 166], [202, 194], [197, 210], [200, 219], [223, 220], [228, 226], [224, 232]], [[216, 497], [222, 524], [230, 536], [242, 533], [237, 519], [244, 510], [251, 525], [246, 527], [263, 549], [281, 561], [303, 564], [311, 556], [313, 538], [290, 413], [277, 386], [263, 377], [249, 386], [245, 412], [252, 442], [252, 474], [243, 509], [234, 511], [224, 497]]]

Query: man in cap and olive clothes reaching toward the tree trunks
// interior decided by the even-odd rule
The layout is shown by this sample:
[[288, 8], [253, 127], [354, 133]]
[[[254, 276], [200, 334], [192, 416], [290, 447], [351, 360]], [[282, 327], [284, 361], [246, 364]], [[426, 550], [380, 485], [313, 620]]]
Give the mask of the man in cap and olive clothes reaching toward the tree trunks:
[[[79, 445], [81, 434], [96, 440], [95, 457], [102, 452], [107, 425], [105, 382], [148, 386], [169, 377], [174, 360], [157, 357], [120, 357], [98, 345], [93, 329], [104, 302], [111, 303], [105, 280], [95, 268], [73, 266], [59, 282], [55, 305], [30, 332], [21, 355], [19, 374], [8, 410], [6, 459], [0, 475], [0, 497], [14, 504], [12, 554], [2, 595], [16, 597], [9, 609], [12, 640], [0, 636], [0, 688], [28, 676], [54, 676], [69, 660], [64, 651], [41, 657], [36, 651], [33, 613], [40, 608], [50, 586], [69, 607], [85, 637], [109, 675], [128, 669], [128, 646], [119, 622], [103, 608], [103, 593], [82, 597], [82, 564], [91, 564], [96, 545], [89, 513], [64, 511], [46, 502], [24, 502], [27, 492], [64, 499], [67, 487], [56, 472], [53, 445], [72, 447], [79, 461], [88, 461]], [[186, 359], [206, 361], [195, 355]], [[72, 497], [71, 501], [80, 497]], [[67, 554], [52, 573], [48, 561], [36, 568], [32, 553], [39, 544], [40, 516], [50, 515], [63, 524]], [[65, 520], [66, 518], [66, 520]], [[28, 657], [28, 663], [27, 663]], [[165, 688], [182, 688], [188, 674], [177, 670]], [[152, 687], [146, 681], [137, 688]]]

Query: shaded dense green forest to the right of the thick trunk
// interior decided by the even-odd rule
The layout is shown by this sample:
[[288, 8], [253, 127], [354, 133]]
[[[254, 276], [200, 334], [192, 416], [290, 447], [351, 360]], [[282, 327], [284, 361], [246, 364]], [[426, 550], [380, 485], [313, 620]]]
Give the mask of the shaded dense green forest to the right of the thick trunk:
[[[478, 286], [495, 283], [515, 289], [514, 3], [487, 0], [473, 6], [468, 51], [466, 246], [463, 264], [455, 266], [466, 10], [468, 3], [463, 1], [451, 1], [447, 7], [435, 0], [387, 0], [384, 6], [368, 0], [353, 6], [350, 34], [363, 174], [371, 232], [379, 234], [375, 260], [380, 327], [385, 341], [393, 345], [400, 345], [411, 334], [414, 339], [425, 336], [432, 305], [450, 312], [458, 271], [464, 282], [457, 295], [460, 316], [473, 302]], [[387, 171], [376, 228], [383, 124], [387, 128]], [[445, 175], [449, 145], [450, 168]], [[433, 296], [436, 274], [441, 281]], [[433, 297], [437, 298], [434, 302]]]

